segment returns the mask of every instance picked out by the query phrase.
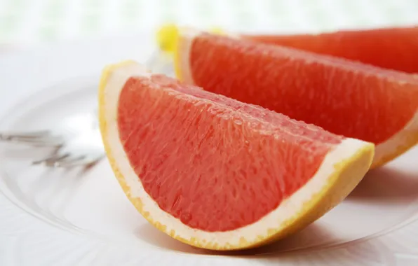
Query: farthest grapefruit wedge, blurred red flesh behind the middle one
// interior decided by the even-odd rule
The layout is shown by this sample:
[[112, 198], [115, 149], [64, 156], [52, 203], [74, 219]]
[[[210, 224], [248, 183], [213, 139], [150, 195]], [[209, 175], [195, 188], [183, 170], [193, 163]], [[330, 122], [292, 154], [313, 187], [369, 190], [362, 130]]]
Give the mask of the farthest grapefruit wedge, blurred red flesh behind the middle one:
[[418, 73], [418, 27], [342, 30], [323, 34], [252, 35], [255, 41]]

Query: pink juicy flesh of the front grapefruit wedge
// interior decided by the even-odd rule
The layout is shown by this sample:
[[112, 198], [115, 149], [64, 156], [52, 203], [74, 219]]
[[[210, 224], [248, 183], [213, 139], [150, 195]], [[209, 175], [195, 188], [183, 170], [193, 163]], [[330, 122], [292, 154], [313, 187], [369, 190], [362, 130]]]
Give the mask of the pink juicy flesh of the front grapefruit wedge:
[[158, 75], [128, 79], [118, 123], [147, 193], [182, 223], [209, 232], [241, 228], [277, 208], [342, 141]]

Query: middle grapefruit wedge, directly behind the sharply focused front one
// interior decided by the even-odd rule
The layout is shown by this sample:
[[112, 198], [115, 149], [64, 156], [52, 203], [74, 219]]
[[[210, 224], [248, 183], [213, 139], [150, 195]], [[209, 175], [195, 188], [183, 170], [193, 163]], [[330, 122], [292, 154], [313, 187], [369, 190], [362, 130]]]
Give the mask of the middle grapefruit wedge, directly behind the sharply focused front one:
[[418, 142], [418, 78], [411, 74], [191, 29], [179, 38], [180, 80], [370, 141], [372, 167]]

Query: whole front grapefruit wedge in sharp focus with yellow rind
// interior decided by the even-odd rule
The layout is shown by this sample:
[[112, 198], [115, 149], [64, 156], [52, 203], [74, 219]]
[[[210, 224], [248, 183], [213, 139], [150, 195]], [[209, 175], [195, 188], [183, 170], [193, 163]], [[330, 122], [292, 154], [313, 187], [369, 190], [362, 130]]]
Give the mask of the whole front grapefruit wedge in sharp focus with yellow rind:
[[135, 62], [104, 70], [99, 102], [129, 200], [159, 230], [202, 248], [250, 248], [304, 228], [353, 190], [374, 153]]

